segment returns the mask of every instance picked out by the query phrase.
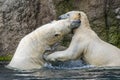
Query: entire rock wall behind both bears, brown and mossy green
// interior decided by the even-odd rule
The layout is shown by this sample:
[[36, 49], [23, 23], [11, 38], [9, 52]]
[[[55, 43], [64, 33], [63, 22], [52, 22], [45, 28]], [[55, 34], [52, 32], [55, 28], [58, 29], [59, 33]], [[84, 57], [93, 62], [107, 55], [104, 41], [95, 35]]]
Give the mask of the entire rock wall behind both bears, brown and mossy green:
[[71, 10], [86, 12], [100, 38], [120, 48], [120, 0], [0, 0], [0, 55], [13, 54], [22, 37]]

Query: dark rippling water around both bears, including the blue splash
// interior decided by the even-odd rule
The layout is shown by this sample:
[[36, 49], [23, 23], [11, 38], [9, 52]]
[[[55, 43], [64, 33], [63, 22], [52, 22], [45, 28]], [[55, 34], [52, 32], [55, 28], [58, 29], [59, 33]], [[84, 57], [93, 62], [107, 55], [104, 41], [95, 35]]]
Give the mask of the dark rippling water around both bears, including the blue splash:
[[0, 63], [0, 80], [120, 80], [120, 67], [92, 67], [81, 61], [47, 65], [36, 71], [10, 70]]

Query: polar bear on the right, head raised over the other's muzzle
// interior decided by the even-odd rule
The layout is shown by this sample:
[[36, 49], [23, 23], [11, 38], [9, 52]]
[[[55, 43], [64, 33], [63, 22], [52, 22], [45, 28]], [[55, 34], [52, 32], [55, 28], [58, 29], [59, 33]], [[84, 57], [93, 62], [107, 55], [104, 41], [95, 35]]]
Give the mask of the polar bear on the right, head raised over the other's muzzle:
[[94, 66], [120, 66], [120, 49], [101, 40], [90, 28], [86, 14], [82, 11], [70, 11], [61, 15], [69, 18], [80, 13], [81, 25], [74, 32], [70, 46], [64, 51], [48, 55], [48, 61], [66, 61], [82, 58], [86, 63]]

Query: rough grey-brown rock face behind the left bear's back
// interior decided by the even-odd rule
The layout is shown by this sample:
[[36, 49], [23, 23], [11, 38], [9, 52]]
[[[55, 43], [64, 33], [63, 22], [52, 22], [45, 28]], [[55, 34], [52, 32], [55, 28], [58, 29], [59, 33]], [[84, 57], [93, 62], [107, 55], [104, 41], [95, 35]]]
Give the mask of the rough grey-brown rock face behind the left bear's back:
[[55, 16], [52, 0], [0, 0], [0, 54], [13, 54], [22, 37]]

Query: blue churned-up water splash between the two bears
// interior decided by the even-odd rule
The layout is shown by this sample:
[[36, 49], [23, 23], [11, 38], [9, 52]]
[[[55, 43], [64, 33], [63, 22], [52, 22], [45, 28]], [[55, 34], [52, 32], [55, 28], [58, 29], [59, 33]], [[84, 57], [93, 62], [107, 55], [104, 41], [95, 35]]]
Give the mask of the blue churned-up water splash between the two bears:
[[91, 68], [93, 65], [87, 65], [81, 60], [76, 61], [66, 61], [66, 62], [53, 62], [46, 63], [44, 65], [47, 69], [83, 69], [83, 68]]

